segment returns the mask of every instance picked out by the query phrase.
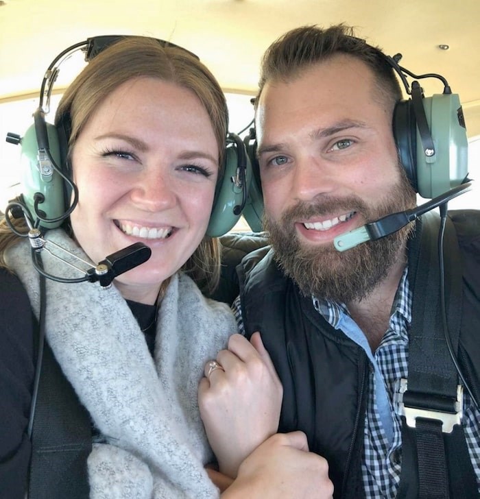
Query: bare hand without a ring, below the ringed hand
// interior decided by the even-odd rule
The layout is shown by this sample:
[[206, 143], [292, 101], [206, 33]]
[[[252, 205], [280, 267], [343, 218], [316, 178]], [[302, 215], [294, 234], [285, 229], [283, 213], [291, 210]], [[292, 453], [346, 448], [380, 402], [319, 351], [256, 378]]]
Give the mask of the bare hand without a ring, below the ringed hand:
[[295, 431], [277, 433], [254, 450], [221, 498], [331, 499], [332, 495], [326, 459], [309, 452], [307, 437]]

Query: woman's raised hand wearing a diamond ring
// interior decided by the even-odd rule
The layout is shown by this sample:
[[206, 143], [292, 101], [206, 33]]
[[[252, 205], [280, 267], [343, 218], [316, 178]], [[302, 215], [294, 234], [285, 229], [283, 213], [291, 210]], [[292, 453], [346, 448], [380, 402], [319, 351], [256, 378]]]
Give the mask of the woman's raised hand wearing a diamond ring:
[[283, 388], [274, 365], [255, 332], [250, 342], [240, 334], [228, 341], [198, 391], [200, 415], [219, 463], [235, 478], [240, 463], [278, 429]]

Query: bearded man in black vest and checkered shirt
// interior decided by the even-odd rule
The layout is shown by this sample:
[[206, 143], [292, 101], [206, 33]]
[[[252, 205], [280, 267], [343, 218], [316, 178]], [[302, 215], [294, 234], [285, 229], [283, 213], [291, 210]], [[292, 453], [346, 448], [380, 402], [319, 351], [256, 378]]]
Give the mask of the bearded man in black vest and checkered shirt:
[[[400, 380], [413, 369], [413, 306], [441, 303], [430, 280], [416, 282], [429, 267], [418, 257], [427, 222], [346, 252], [333, 244], [416, 206], [392, 133], [401, 99], [395, 73], [379, 49], [343, 25], [293, 29], [269, 47], [261, 71], [257, 153], [273, 251], [244, 260], [239, 313], [248, 337], [261, 332], [283, 383], [280, 431], [307, 434], [310, 450], [328, 461], [335, 498], [477, 496], [479, 214], [470, 214], [475, 230], [455, 223], [464, 274], [453, 352], [465, 382], [463, 415], [452, 433], [458, 444], [446, 433], [444, 443], [440, 430], [446, 470], [435, 468], [432, 478], [434, 465], [423, 457], [436, 456], [437, 447], [422, 451], [420, 439], [434, 437], [411, 433], [400, 396]], [[410, 454], [415, 439], [418, 458]]]

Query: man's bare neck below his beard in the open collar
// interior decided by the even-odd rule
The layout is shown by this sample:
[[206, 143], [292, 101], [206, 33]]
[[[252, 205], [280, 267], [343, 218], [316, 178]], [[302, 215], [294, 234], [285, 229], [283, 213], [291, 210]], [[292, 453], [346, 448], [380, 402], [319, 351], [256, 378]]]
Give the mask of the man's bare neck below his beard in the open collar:
[[367, 337], [372, 352], [378, 348], [388, 328], [392, 304], [406, 263], [407, 252], [403, 247], [385, 279], [377, 284], [372, 293], [363, 300], [346, 304], [352, 319]]

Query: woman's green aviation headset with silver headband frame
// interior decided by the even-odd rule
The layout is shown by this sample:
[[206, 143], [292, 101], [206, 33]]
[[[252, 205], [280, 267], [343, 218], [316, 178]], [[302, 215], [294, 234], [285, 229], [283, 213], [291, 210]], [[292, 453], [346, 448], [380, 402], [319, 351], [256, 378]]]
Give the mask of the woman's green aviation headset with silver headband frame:
[[[64, 49], [51, 62], [43, 78], [39, 106], [34, 112], [34, 124], [27, 129], [23, 138], [11, 133], [7, 135], [8, 142], [21, 143], [24, 162], [22, 201], [31, 215], [29, 218], [36, 219], [36, 224], [43, 228], [60, 226], [75, 208], [78, 197], [77, 188], [69, 178], [67, 167], [69, 120], [61, 120], [57, 126], [45, 121], [45, 114], [49, 112], [51, 90], [60, 65], [79, 49], [85, 52], [85, 60], [89, 62], [121, 38], [126, 37], [95, 36]], [[156, 40], [164, 47], [182, 49], [199, 60], [187, 49], [165, 40]], [[232, 133], [227, 135], [224, 153], [224, 171], [219, 175], [207, 229], [207, 234], [212, 237], [228, 232], [237, 223], [247, 202], [248, 185], [252, 175], [250, 160], [239, 136]], [[74, 197], [71, 203], [72, 190]]]

